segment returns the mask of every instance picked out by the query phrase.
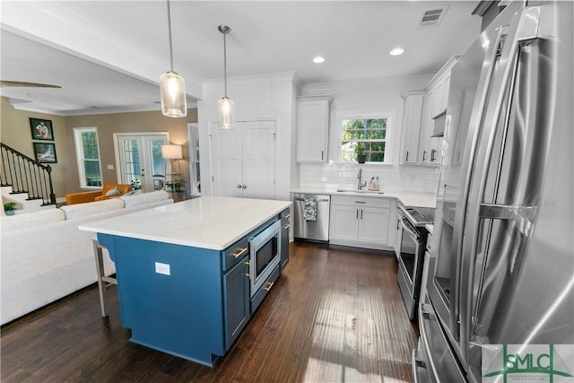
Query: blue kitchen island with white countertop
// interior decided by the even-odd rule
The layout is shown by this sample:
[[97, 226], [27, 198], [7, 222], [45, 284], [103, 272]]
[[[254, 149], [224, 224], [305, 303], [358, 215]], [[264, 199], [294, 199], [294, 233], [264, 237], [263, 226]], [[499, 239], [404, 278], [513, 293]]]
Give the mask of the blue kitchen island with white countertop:
[[[290, 205], [204, 196], [80, 229], [98, 233], [115, 262], [122, 326], [131, 329], [130, 341], [213, 366], [281, 273], [278, 261], [270, 263], [263, 287], [254, 292], [257, 270], [249, 244], [271, 226], [279, 228]], [[281, 257], [281, 248], [288, 251], [282, 237], [284, 242], [284, 235], [274, 238], [275, 256]]]

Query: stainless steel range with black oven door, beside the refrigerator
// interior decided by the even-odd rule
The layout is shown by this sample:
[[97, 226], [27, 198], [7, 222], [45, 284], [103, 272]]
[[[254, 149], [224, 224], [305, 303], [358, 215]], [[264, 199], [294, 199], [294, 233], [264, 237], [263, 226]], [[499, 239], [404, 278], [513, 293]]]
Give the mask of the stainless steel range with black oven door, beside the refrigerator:
[[396, 278], [406, 312], [413, 319], [421, 294], [422, 265], [428, 234], [425, 226], [432, 223], [434, 209], [399, 205], [396, 212], [397, 231], [400, 231], [400, 242], [396, 249]]

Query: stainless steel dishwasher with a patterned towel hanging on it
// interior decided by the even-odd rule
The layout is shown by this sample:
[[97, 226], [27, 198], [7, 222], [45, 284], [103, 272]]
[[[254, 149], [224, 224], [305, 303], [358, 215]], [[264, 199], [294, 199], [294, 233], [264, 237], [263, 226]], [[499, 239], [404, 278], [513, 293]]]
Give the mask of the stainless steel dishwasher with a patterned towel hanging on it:
[[[318, 242], [328, 242], [329, 240], [329, 207], [331, 205], [331, 196], [295, 194], [295, 239], [306, 239]], [[305, 201], [317, 201], [317, 213], [315, 221], [309, 221], [305, 215]]]

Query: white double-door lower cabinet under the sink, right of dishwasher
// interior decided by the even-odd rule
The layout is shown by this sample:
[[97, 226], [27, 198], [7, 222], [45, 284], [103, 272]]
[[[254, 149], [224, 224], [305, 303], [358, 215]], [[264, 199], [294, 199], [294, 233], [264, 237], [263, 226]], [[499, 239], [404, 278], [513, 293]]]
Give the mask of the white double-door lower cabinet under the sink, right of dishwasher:
[[388, 242], [391, 198], [332, 196], [329, 243], [358, 248], [393, 247]]

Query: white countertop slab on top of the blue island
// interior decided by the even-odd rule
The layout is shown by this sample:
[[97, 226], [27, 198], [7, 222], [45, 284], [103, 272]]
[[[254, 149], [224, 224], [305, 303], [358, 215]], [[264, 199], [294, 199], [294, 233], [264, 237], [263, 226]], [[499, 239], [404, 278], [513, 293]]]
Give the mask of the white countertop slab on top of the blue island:
[[291, 201], [202, 196], [79, 226], [120, 237], [223, 250], [281, 213]]

